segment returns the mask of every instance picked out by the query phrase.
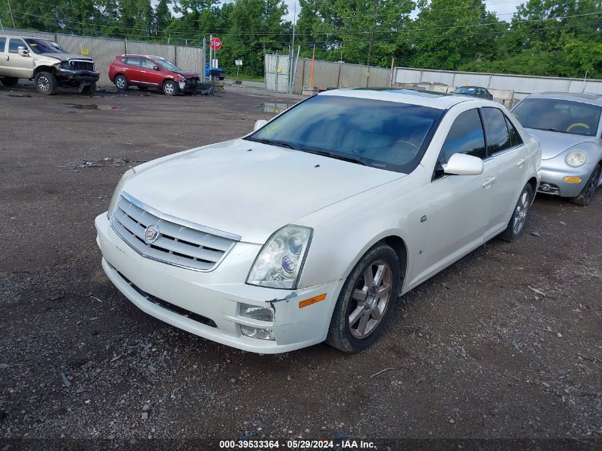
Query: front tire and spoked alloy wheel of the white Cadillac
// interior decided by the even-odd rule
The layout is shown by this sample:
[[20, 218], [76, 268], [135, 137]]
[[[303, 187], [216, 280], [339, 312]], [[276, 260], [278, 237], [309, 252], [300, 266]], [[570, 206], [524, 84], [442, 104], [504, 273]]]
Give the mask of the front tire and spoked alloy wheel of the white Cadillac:
[[[370, 274], [371, 283], [366, 274]], [[378, 274], [380, 281], [375, 281]], [[326, 343], [346, 353], [358, 353], [377, 341], [395, 304], [399, 281], [397, 254], [387, 244], [375, 244], [358, 261], [341, 289]], [[382, 297], [375, 296], [378, 287], [385, 290], [387, 286]]]

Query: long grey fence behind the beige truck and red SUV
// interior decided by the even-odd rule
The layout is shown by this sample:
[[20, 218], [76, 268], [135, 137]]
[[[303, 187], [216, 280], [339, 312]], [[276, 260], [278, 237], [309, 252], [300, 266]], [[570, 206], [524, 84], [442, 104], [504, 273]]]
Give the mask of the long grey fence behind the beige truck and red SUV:
[[204, 75], [204, 64], [202, 62], [202, 48], [167, 46], [165, 44], [126, 41], [123, 39], [91, 38], [89, 36], [76, 36], [60, 33], [40, 33], [36, 31], [14, 30], [4, 28], [0, 34], [17, 36], [31, 36], [35, 38], [46, 38], [56, 41], [69, 53], [80, 55], [82, 48], [87, 48], [90, 57], [94, 59], [94, 65], [100, 72], [100, 86], [112, 86], [108, 78], [109, 64], [115, 56], [123, 53], [139, 53], [141, 55], [161, 56], [185, 71], [194, 71]]

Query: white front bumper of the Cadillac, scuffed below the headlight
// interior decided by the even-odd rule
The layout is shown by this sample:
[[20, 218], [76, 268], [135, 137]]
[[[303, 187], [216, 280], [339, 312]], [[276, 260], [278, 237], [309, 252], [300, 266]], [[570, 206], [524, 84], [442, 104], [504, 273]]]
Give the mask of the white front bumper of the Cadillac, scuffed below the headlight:
[[[106, 213], [96, 217], [95, 227], [103, 269], [109, 279], [133, 304], [161, 321], [217, 343], [256, 353], [294, 351], [326, 339], [343, 281], [296, 291], [246, 285], [250, 264], [260, 249], [257, 244], [239, 242], [216, 269], [199, 272], [141, 256], [115, 233]], [[323, 293], [326, 300], [299, 308], [299, 301]], [[274, 321], [241, 316], [242, 303], [273, 306]], [[272, 328], [275, 340], [244, 336], [241, 325]]]

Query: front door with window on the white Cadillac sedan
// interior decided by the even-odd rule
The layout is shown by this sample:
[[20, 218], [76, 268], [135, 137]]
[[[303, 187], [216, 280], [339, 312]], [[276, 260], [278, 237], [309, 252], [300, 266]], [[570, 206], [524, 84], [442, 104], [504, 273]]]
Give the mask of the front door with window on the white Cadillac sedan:
[[478, 108], [457, 116], [435, 166], [430, 168], [430, 207], [423, 218], [427, 222], [428, 237], [421, 280], [478, 247], [489, 229], [492, 202], [489, 168], [485, 165], [481, 175], [446, 175], [440, 167], [455, 153], [487, 158]]

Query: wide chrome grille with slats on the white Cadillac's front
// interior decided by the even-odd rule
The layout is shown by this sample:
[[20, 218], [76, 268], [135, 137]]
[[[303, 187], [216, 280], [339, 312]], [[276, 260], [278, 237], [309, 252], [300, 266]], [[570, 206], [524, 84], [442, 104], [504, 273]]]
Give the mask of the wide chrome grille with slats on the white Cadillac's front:
[[[145, 230], [151, 225], [159, 229], [159, 237], [147, 244]], [[205, 231], [209, 228], [204, 226], [180, 224], [177, 218], [157, 212], [125, 193], [117, 202], [111, 226], [142, 256], [197, 271], [214, 269], [239, 239], [225, 232], [228, 237], [220, 237]]]

